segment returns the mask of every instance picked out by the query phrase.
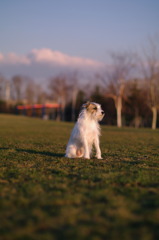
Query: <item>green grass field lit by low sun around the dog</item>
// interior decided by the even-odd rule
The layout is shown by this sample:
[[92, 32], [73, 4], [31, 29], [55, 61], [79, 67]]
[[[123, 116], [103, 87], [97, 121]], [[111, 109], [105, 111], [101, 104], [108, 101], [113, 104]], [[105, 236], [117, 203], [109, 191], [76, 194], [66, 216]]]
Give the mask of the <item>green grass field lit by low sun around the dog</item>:
[[159, 239], [159, 131], [103, 126], [102, 160], [67, 159], [72, 127], [0, 115], [0, 239]]

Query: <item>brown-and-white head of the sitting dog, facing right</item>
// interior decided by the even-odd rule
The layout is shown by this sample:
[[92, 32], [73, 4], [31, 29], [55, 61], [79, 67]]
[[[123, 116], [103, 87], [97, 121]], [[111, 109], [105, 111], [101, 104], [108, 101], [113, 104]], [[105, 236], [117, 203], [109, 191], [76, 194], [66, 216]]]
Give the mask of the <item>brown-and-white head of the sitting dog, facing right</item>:
[[96, 121], [101, 121], [105, 115], [101, 105], [95, 102], [86, 102], [82, 108], [86, 109], [86, 112]]

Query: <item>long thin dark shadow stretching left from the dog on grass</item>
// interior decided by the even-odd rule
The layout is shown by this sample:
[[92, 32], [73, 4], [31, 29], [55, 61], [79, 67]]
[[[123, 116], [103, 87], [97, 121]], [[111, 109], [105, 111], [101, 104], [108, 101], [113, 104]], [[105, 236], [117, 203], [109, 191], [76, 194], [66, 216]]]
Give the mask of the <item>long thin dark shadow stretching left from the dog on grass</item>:
[[[0, 148], [0, 150], [11, 150], [10, 148]], [[36, 151], [33, 149], [21, 149], [21, 148], [16, 148], [14, 149], [17, 152], [24, 152], [24, 153], [29, 153], [29, 154], [39, 154], [39, 155], [45, 155], [49, 157], [59, 157], [62, 158], [64, 157], [63, 153], [52, 153], [52, 152], [46, 152], [46, 151]]]

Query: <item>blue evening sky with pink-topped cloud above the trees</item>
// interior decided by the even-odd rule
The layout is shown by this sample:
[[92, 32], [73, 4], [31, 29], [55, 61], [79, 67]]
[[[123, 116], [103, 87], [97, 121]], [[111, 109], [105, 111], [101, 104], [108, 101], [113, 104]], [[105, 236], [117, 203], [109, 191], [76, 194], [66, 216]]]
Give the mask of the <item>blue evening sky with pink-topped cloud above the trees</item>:
[[155, 34], [158, 0], [0, 0], [0, 73], [95, 69]]

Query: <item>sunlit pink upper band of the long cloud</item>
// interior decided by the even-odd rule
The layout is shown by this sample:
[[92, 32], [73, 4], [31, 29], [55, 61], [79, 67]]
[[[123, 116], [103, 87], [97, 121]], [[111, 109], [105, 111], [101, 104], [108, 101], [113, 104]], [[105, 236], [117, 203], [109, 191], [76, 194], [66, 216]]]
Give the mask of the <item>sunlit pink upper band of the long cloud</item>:
[[33, 63], [40, 64], [50, 64], [55, 66], [64, 66], [64, 67], [83, 67], [83, 68], [94, 68], [100, 67], [101, 62], [81, 58], [81, 57], [72, 57], [66, 55], [59, 51], [53, 51], [48, 48], [43, 49], [33, 49], [27, 55], [17, 55], [16, 53], [8, 53], [3, 55], [0, 53], [0, 63], [3, 64], [22, 64], [29, 65]]

